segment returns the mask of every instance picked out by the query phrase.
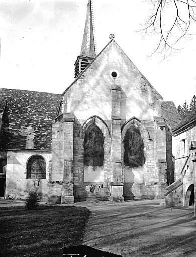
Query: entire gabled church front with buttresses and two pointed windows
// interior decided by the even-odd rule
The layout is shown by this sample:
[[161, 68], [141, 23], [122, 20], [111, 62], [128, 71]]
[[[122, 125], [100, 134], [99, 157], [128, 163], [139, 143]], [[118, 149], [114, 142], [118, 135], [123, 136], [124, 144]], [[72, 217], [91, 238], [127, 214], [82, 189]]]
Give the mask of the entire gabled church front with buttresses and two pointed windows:
[[[162, 97], [114, 39], [62, 96], [52, 124], [48, 201], [162, 198], [168, 180]], [[125, 152], [133, 146], [126, 140], [134, 135], [143, 157], [130, 165]], [[138, 158], [137, 149], [128, 154]]]

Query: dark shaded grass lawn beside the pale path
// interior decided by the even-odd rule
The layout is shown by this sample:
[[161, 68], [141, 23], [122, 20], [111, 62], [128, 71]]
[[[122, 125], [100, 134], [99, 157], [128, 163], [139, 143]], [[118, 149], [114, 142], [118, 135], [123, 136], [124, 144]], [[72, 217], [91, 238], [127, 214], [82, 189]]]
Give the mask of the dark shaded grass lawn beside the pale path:
[[0, 208], [0, 256], [62, 256], [63, 245], [82, 243], [89, 213], [75, 206]]

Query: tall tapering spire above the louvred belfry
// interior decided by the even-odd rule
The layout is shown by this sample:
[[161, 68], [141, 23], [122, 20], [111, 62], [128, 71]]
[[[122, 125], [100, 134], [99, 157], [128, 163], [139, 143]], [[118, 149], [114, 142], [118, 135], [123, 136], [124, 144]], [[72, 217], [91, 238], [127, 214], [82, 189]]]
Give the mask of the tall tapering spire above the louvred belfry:
[[86, 23], [84, 28], [83, 41], [81, 46], [80, 56], [95, 57], [95, 42], [92, 20], [92, 3], [88, 0]]

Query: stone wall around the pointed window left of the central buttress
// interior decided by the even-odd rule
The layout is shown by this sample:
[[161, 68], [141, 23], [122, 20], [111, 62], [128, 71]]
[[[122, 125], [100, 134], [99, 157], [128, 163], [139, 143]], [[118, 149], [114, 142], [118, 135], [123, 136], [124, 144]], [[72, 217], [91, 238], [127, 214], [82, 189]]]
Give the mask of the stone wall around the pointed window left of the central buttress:
[[[101, 167], [91, 167], [84, 165], [84, 133], [91, 123], [100, 127], [104, 135], [104, 164]], [[109, 185], [111, 180], [110, 170], [110, 136], [105, 124], [96, 117], [89, 119], [82, 128], [84, 120], [76, 120], [74, 123], [74, 140], [73, 140], [73, 183], [74, 183], [74, 200], [109, 200]], [[87, 176], [86, 176], [87, 174]]]

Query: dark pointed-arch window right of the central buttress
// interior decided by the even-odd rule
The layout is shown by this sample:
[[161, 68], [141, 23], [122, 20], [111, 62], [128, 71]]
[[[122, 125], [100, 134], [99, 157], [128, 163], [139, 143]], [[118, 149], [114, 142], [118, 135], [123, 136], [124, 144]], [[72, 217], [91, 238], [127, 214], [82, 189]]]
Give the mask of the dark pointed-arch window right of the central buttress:
[[130, 167], [143, 166], [145, 163], [144, 142], [140, 131], [135, 126], [131, 126], [125, 134], [124, 163]]

